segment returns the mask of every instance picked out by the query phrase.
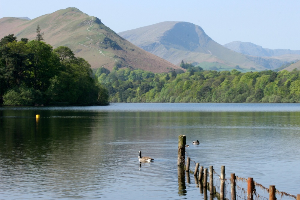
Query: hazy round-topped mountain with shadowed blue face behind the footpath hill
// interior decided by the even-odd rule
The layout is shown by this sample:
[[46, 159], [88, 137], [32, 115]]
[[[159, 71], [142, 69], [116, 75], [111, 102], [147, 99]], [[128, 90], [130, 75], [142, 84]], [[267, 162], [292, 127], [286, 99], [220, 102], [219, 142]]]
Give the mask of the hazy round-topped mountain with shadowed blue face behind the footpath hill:
[[[212, 40], [204, 30], [189, 22], [161, 22], [118, 33], [128, 41], [161, 58], [179, 65], [181, 60], [224, 68], [265, 70], [284, 64], [274, 58], [256, 58], [232, 51]], [[221, 67], [223, 66], [223, 67]]]

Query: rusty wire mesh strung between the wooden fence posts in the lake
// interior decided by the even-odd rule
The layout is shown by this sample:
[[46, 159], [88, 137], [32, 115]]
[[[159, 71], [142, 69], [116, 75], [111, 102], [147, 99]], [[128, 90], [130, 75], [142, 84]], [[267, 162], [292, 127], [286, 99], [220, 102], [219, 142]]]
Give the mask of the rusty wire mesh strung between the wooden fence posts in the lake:
[[[196, 162], [190, 159], [190, 173], [194, 173], [194, 169], [196, 168]], [[221, 185], [221, 176], [214, 172], [214, 189], [215, 192], [220, 194], [220, 185]], [[209, 172], [208, 172], [209, 176]], [[198, 176], [194, 177], [195, 183], [197, 183]], [[230, 178], [225, 178], [225, 187], [224, 187], [224, 196], [226, 200], [231, 200], [231, 180]], [[241, 178], [235, 176], [235, 196], [236, 200], [247, 200], [247, 178]], [[297, 199], [295, 195], [288, 194], [286, 192], [281, 192], [276, 190], [276, 200], [283, 199]], [[263, 186], [262, 184], [256, 183], [254, 181], [254, 192], [253, 192], [253, 200], [269, 200], [269, 188]]]

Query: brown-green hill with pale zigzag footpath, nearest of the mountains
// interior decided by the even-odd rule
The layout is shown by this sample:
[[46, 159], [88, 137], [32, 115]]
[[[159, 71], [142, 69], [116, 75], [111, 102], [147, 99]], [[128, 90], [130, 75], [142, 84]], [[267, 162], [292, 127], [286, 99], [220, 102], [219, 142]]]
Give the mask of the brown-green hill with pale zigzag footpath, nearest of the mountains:
[[159, 58], [120, 37], [97, 17], [69, 7], [32, 20], [4, 17], [0, 19], [0, 38], [15, 34], [34, 40], [40, 25], [44, 40], [54, 48], [68, 46], [76, 56], [87, 60], [92, 68], [112, 69], [116, 62], [122, 67], [152, 72], [169, 72], [180, 67]]

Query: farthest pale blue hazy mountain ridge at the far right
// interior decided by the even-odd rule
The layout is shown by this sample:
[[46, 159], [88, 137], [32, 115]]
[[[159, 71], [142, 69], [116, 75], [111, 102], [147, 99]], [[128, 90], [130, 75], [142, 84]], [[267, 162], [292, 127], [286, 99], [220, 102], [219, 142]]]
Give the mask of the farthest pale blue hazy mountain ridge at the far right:
[[241, 42], [241, 41], [233, 41], [227, 44], [224, 44], [228, 49], [231, 49], [235, 52], [253, 55], [259, 57], [272, 57], [272, 56], [281, 56], [285, 54], [298, 54], [300, 55], [300, 51], [293, 51], [290, 49], [265, 49], [262, 46], [253, 44], [251, 42]]

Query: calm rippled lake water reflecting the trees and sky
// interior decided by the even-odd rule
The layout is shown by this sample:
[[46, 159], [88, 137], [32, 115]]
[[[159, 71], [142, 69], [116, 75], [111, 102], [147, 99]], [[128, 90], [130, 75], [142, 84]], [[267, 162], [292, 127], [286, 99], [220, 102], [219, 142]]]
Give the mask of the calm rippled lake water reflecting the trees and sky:
[[205, 168], [300, 193], [300, 104], [114, 103], [0, 107], [0, 199], [204, 199], [179, 191], [181, 134]]

